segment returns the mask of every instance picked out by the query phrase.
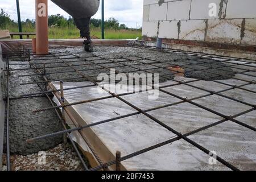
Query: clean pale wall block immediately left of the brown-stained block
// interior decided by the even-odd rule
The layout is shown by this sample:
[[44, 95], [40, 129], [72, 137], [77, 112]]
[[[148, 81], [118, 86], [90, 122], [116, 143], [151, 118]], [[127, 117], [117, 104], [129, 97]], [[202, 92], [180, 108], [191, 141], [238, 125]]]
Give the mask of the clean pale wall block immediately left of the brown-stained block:
[[159, 25], [159, 38], [177, 39], [178, 38], [178, 27], [179, 21], [163, 21]]

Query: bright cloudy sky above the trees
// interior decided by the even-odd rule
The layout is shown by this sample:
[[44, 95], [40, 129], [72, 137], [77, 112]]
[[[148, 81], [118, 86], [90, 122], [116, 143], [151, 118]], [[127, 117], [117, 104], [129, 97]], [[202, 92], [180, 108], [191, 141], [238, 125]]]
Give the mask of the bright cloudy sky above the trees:
[[[61, 14], [68, 18], [68, 14], [61, 10], [53, 2], [49, 2], [49, 15]], [[142, 26], [142, 11], [143, 0], [105, 0], [105, 19], [114, 17], [120, 23], [126, 24], [127, 27], [136, 28]], [[19, 0], [20, 16], [22, 20], [27, 18], [35, 19], [35, 0]], [[0, 9], [3, 9], [11, 16], [11, 19], [16, 20], [16, 1], [15, 0], [0, 0]], [[101, 8], [93, 18], [101, 19]]]

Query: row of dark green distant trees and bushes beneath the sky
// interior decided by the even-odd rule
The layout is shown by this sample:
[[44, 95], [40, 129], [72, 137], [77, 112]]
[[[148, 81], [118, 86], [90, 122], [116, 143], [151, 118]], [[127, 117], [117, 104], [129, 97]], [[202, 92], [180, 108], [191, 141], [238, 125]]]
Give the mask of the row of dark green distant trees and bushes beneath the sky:
[[[71, 16], [69, 16], [69, 18], [65, 18], [60, 14], [48, 16], [48, 24], [49, 24], [49, 27], [61, 27], [61, 28], [76, 26]], [[5, 11], [1, 9], [0, 28], [6, 29], [9, 26], [18, 26], [18, 22], [15, 22], [14, 20], [12, 20], [10, 18], [10, 15], [5, 13]], [[35, 27], [35, 20], [26, 19], [22, 21], [22, 26]], [[92, 18], [90, 21], [90, 26], [101, 27], [101, 19]], [[118, 20], [115, 18], [109, 18], [108, 20], [105, 20], [105, 28], [111, 28], [114, 30], [129, 29], [126, 27], [125, 24], [119, 24]]]

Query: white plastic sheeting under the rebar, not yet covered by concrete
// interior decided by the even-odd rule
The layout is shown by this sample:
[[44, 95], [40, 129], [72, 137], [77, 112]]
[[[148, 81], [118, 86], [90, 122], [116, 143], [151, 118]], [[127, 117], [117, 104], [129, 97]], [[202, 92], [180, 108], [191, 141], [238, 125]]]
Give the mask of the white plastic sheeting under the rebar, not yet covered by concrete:
[[[236, 77], [241, 76], [242, 75], [237, 75]], [[190, 78], [182, 77], [176, 77], [176, 79], [184, 81], [191, 80]], [[250, 80], [250, 77], [247, 77], [246, 79]], [[233, 85], [241, 85], [245, 83], [234, 79], [221, 80], [221, 82]], [[160, 85], [174, 83], [174, 81], [167, 81], [160, 83]], [[89, 84], [92, 83], [64, 82], [64, 88]], [[54, 82], [53, 85], [59, 89], [58, 82]], [[229, 86], [217, 84], [212, 81], [196, 81], [191, 82], [191, 85], [214, 91], [229, 88]], [[247, 88], [248, 87], [249, 89], [255, 89], [254, 84], [247, 86]], [[164, 88], [164, 90], [187, 98], [208, 94], [208, 92], [194, 89], [186, 85], [171, 86]], [[126, 93], [126, 90], [117, 90], [116, 93]], [[246, 92], [245, 90], [233, 89], [222, 94], [237, 98], [241, 101], [249, 102], [250, 104], [256, 104], [255, 94]], [[69, 103], [105, 96], [110, 96], [110, 94], [107, 92], [99, 93], [97, 86], [64, 91], [64, 97]], [[159, 92], [159, 98], [157, 100], [148, 100], [148, 93], [146, 92], [130, 94], [122, 96], [122, 98], [143, 110], [181, 101], [163, 92]], [[225, 115], [234, 115], [251, 108], [250, 106], [216, 95], [204, 97], [195, 100], [195, 102]], [[119, 115], [135, 113], [137, 111], [117, 98], [109, 98], [72, 107], [81, 115], [87, 124], [118, 117]], [[150, 111], [148, 114], [166, 123], [166, 125], [182, 134], [223, 119], [218, 115], [188, 103], [164, 107], [162, 109]], [[253, 111], [242, 115], [237, 119], [256, 127], [255, 116], [256, 111]], [[143, 114], [97, 125], [92, 127], [92, 130], [109, 148], [113, 155], [115, 155], [115, 152], [118, 150], [121, 151], [122, 156], [164, 142], [172, 137], [176, 137], [175, 134], [164, 129], [164, 127]], [[221, 125], [194, 134], [189, 138], [195, 140], [195, 142], [198, 142], [210, 151], [216, 151], [217, 155], [240, 169], [256, 169], [256, 134], [246, 127], [227, 121]], [[82, 141], [81, 139], [76, 140]], [[86, 150], [86, 144], [82, 142], [80, 142], [80, 144]], [[125, 160], [122, 164], [128, 170], [228, 169], [218, 162], [216, 165], [210, 165], [208, 160], [209, 155], [181, 139], [172, 144], [167, 144], [166, 146]]]

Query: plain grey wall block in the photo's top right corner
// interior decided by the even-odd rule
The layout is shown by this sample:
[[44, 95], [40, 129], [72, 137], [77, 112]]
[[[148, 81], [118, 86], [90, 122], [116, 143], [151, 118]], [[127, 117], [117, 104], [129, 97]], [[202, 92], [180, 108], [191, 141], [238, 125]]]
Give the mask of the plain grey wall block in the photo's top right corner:
[[256, 18], [255, 0], [228, 1], [226, 18]]

